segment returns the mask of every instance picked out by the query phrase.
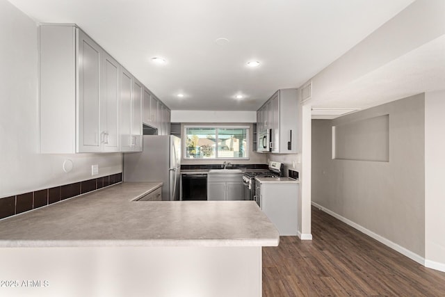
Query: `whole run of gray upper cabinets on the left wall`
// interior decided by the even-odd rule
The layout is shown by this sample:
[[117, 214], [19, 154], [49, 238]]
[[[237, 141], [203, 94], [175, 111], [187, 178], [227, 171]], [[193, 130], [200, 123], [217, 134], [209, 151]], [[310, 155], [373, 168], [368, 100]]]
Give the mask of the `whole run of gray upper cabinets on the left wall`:
[[39, 63], [40, 152], [140, 152], [143, 122], [168, 133], [170, 110], [74, 24], [39, 26]]

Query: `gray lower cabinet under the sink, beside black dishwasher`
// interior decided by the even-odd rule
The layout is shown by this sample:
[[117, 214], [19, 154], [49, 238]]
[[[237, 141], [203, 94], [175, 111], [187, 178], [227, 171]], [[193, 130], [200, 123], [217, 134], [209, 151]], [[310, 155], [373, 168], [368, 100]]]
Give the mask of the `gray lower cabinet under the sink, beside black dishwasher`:
[[207, 200], [244, 200], [242, 174], [215, 173], [207, 175]]

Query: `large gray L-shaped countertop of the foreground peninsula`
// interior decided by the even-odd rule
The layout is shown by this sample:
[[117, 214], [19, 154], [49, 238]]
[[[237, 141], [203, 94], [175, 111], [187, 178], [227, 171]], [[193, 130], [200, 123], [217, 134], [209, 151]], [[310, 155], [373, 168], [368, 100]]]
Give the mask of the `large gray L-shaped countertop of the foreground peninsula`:
[[159, 183], [122, 183], [0, 220], [0, 247], [277, 246], [254, 201], [133, 201]]

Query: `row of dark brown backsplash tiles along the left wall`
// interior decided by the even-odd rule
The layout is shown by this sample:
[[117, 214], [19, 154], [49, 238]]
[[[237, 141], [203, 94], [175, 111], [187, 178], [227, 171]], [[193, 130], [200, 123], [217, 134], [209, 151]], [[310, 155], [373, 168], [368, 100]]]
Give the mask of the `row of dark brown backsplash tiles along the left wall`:
[[0, 198], [0, 219], [122, 182], [122, 173]]

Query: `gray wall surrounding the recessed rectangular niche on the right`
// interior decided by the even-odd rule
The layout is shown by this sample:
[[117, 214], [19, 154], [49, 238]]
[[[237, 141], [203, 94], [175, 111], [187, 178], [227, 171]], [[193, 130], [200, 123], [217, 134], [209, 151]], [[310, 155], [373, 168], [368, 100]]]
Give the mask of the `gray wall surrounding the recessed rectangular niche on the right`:
[[[389, 115], [389, 161], [332, 159], [332, 126]], [[312, 201], [425, 256], [425, 96], [312, 120]]]

